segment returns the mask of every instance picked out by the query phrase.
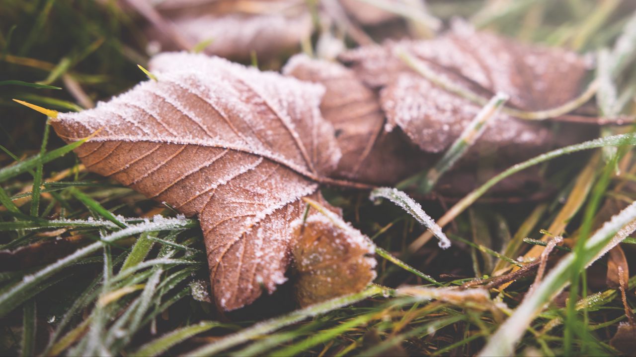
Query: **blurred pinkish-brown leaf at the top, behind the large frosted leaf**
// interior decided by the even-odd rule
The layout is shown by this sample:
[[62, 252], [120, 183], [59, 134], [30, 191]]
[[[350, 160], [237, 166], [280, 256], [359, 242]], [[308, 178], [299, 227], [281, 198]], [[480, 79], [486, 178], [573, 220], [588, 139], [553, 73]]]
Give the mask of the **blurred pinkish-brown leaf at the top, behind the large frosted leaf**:
[[[271, 58], [296, 48], [313, 30], [302, 0], [169, 0], [156, 9], [192, 43], [212, 41], [206, 53], [228, 58], [249, 58], [252, 51]], [[178, 49], [162, 32], [156, 25], [148, 28], [164, 49]]]

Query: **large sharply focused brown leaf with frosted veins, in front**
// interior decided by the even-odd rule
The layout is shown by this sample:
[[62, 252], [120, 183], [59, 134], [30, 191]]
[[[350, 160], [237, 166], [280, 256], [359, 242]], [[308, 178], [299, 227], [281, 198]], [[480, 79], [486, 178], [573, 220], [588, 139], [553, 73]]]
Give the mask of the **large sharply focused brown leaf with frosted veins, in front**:
[[53, 128], [67, 142], [102, 128], [76, 149], [88, 170], [198, 215], [216, 303], [237, 309], [286, 280], [300, 199], [321, 201], [316, 180], [340, 158], [323, 90], [189, 53], [150, 68], [158, 81], [60, 114]]

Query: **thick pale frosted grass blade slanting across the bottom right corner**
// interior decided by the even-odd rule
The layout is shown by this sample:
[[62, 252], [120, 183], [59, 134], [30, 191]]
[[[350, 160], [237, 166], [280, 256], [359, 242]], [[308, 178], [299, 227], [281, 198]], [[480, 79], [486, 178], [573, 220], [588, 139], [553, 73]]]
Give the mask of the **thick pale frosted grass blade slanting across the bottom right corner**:
[[[588, 239], [581, 249], [580, 256], [584, 262], [583, 269], [590, 266], [595, 260], [602, 257], [611, 248], [618, 245], [623, 239], [636, 229], [636, 202], [622, 210], [618, 215], [598, 229]], [[486, 346], [480, 351], [479, 356], [509, 356], [515, 353], [515, 346], [522, 338], [526, 328], [529, 327], [536, 314], [550, 299], [560, 293], [568, 285], [571, 270], [576, 262], [575, 253], [569, 253], [556, 264], [546, 275], [544, 280], [529, 295], [526, 295], [522, 304], [490, 337]]]

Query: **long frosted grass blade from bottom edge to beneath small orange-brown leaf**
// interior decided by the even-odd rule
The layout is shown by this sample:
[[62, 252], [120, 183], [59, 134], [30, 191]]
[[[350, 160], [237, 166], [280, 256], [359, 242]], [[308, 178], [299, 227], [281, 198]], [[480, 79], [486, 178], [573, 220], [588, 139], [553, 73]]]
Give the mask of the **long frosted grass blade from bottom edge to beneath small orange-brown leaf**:
[[286, 327], [298, 321], [305, 320], [306, 318], [328, 313], [329, 311], [354, 304], [360, 300], [364, 300], [375, 295], [380, 295], [382, 293], [385, 293], [386, 291], [386, 288], [382, 288], [381, 286], [377, 285], [371, 285], [359, 293], [337, 297], [336, 299], [327, 300], [325, 302], [320, 302], [318, 304], [305, 307], [304, 309], [296, 310], [293, 313], [280, 316], [279, 318], [273, 318], [271, 320], [256, 323], [256, 325], [252, 325], [252, 327], [245, 328], [244, 330], [241, 330], [237, 333], [232, 333], [231, 335], [216, 340], [211, 344], [207, 344], [203, 347], [195, 349], [194, 351], [190, 351], [185, 355], [209, 356], [211, 354], [218, 354], [221, 351], [225, 351], [226, 349], [252, 340], [260, 335], [265, 335], [267, 333], [278, 330], [279, 328]]

